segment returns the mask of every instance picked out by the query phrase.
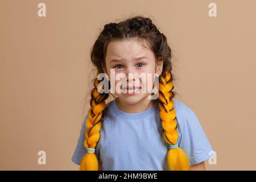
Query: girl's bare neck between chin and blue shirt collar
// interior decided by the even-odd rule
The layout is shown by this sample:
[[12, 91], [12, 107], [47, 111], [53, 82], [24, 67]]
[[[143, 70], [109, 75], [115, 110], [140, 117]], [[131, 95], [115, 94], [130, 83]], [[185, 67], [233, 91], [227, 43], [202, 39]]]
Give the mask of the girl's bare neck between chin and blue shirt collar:
[[119, 98], [116, 99], [116, 104], [120, 110], [125, 113], [141, 113], [144, 110], [147, 110], [152, 105], [152, 100], [146, 99], [136, 103], [136, 104], [125, 104], [120, 102]]

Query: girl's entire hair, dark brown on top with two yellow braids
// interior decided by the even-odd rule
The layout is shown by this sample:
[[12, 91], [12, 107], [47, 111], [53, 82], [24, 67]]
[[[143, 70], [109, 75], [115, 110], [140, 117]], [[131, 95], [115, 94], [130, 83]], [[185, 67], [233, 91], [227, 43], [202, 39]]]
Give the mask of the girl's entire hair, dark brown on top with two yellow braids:
[[[104, 30], [101, 31], [91, 52], [91, 60], [97, 68], [97, 75], [104, 73], [106, 48], [108, 43], [113, 40], [123, 40], [137, 38], [142, 46], [147, 46], [154, 52], [156, 63], [163, 61], [163, 70], [159, 76], [159, 94], [158, 99], [152, 100], [155, 106], [160, 109], [160, 119], [162, 120], [162, 139], [170, 145], [167, 153], [167, 164], [171, 171], [189, 170], [189, 159], [181, 148], [178, 147], [177, 138], [177, 120], [172, 98], [175, 92], [172, 91], [174, 85], [171, 74], [171, 48], [168, 46], [167, 38], [162, 34], [150, 18], [143, 16], [134, 16], [119, 23], [105, 24]], [[144, 45], [146, 40], [147, 45]], [[97, 90], [99, 82], [94, 80], [94, 88], [91, 93], [90, 109], [86, 121], [86, 131], [84, 147], [88, 150], [82, 157], [80, 170], [98, 171], [98, 160], [94, 151], [100, 140], [100, 129], [102, 117], [106, 107], [106, 98], [109, 93], [99, 93]], [[175, 146], [175, 147], [173, 147]]]

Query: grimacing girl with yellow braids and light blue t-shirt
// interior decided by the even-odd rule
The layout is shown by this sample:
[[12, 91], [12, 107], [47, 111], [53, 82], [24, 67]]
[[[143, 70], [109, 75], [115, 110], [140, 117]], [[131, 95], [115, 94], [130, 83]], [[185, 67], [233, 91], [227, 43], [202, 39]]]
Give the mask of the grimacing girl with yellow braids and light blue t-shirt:
[[105, 73], [110, 79], [113, 69], [127, 77], [129, 73], [158, 73], [158, 97], [150, 100], [150, 90], [140, 92], [152, 88], [155, 77], [146, 84], [139, 80], [137, 86], [129, 77], [129, 86], [121, 88], [127, 93], [115, 92], [115, 99], [106, 104], [111, 93], [100, 93], [100, 81], [95, 78], [90, 109], [72, 156], [80, 170], [205, 169], [212, 147], [195, 113], [174, 100], [171, 48], [150, 18], [135, 16], [106, 24], [91, 59], [97, 75]]

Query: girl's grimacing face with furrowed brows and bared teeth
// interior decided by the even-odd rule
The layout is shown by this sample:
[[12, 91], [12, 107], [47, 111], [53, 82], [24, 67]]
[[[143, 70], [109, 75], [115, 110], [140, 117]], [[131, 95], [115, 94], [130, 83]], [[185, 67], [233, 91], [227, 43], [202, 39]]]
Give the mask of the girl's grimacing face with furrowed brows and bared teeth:
[[[108, 44], [105, 65], [105, 73], [115, 82], [114, 94], [122, 104], [134, 105], [146, 100], [150, 102], [148, 94], [154, 86], [154, 73], [160, 75], [163, 61], [156, 64], [154, 53], [149, 48], [141, 46], [135, 39], [112, 41]], [[112, 78], [113, 72], [115, 78]], [[126, 85], [122, 82], [126, 82]], [[129, 88], [139, 89], [136, 89], [134, 94], [134, 90], [127, 90]]]

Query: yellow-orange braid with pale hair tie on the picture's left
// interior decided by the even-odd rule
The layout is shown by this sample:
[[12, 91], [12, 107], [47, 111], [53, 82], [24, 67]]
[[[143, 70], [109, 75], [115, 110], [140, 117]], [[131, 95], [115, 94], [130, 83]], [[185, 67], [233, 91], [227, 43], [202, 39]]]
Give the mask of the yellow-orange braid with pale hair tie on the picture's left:
[[[97, 73], [97, 76], [98, 74], [99, 72]], [[88, 119], [85, 123], [86, 131], [84, 147], [86, 148], [87, 153], [81, 159], [80, 171], [98, 171], [98, 159], [94, 151], [97, 142], [100, 139], [102, 111], [105, 109], [105, 100], [108, 98], [108, 93], [98, 93], [98, 84], [99, 82], [96, 77], [94, 80], [94, 89], [91, 94], [91, 107], [88, 111]]]

